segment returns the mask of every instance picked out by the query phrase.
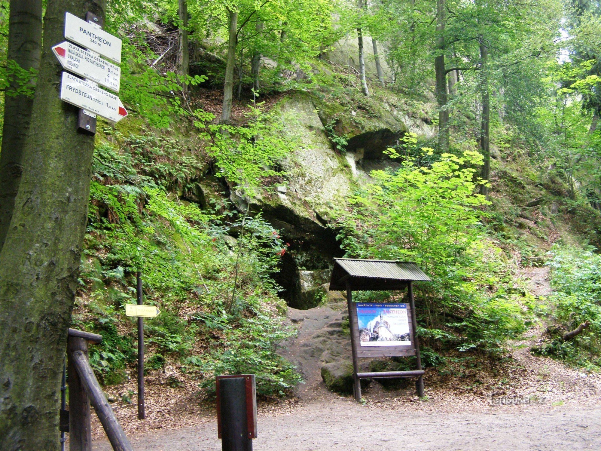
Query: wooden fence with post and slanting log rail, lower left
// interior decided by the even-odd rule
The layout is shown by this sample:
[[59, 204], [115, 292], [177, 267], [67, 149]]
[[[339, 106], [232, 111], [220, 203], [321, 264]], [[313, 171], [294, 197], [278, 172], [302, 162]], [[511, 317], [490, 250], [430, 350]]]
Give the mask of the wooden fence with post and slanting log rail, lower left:
[[100, 388], [88, 361], [88, 340], [99, 343], [102, 336], [69, 329], [67, 362], [69, 373], [69, 449], [91, 451], [90, 401], [115, 451], [133, 451], [111, 405]]

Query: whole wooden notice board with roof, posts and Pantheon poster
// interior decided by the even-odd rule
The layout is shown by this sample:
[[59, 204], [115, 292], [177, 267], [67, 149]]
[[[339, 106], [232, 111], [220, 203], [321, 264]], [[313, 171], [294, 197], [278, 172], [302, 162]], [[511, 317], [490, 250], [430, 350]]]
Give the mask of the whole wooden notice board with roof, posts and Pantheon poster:
[[[413, 281], [430, 278], [413, 262], [395, 260], [334, 259], [330, 290], [346, 290], [350, 343], [353, 354], [355, 399], [361, 401], [361, 379], [417, 378], [419, 397], [424, 396]], [[354, 291], [407, 289], [405, 302], [353, 302]], [[361, 372], [362, 357], [416, 357], [415, 370]]]

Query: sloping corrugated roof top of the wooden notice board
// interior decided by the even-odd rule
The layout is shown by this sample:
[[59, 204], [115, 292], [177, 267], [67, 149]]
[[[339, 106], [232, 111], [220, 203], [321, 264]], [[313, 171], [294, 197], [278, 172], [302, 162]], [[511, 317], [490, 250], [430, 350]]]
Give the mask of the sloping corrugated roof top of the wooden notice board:
[[352, 277], [373, 277], [392, 280], [431, 280], [414, 262], [362, 259], [334, 259], [334, 261]]

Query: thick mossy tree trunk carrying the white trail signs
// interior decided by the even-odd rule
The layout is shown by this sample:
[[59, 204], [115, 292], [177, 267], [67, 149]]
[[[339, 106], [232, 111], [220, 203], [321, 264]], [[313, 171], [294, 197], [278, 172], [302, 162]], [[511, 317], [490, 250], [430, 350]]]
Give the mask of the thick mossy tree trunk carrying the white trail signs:
[[0, 449], [58, 450], [67, 330], [90, 197], [94, 137], [59, 99], [65, 12], [105, 15], [105, 0], [49, 0], [31, 130], [0, 253]]

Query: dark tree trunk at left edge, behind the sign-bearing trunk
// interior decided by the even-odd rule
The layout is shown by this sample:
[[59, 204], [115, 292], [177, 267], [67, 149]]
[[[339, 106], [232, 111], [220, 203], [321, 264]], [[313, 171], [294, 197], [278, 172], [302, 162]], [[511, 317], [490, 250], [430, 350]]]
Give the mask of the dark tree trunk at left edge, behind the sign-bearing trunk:
[[[7, 60], [22, 69], [40, 69], [41, 0], [10, 0]], [[17, 88], [16, 81], [8, 90]], [[14, 198], [23, 172], [23, 146], [31, 121], [33, 97], [4, 96], [4, 127], [0, 153], [0, 248], [13, 216]]]

